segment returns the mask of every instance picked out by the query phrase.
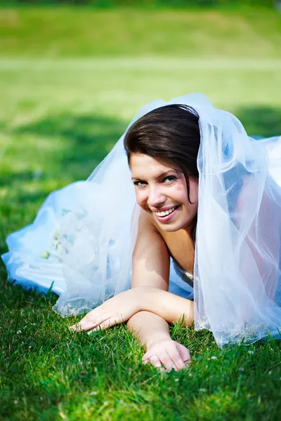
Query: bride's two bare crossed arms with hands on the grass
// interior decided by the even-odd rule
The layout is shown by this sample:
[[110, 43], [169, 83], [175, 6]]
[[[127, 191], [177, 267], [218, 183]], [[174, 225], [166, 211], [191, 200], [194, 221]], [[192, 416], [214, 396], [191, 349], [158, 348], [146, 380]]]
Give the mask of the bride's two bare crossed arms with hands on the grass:
[[[180, 370], [189, 361], [188, 349], [171, 340], [166, 323], [183, 317], [191, 323], [192, 302], [169, 293], [169, 253], [155, 227], [140, 218], [138, 241], [133, 253], [133, 287], [91, 310], [72, 330], [107, 329], [128, 321], [129, 330], [145, 346], [145, 361], [168, 370]], [[148, 221], [150, 222], [150, 221]], [[166, 321], [165, 321], [166, 319]]]

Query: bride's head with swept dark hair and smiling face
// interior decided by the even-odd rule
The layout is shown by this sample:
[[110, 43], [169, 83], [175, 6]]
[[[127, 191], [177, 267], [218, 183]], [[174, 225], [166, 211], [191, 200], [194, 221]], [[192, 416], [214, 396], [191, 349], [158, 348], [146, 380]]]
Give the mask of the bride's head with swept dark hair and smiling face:
[[168, 105], [143, 116], [126, 134], [124, 146], [136, 201], [143, 210], [152, 212], [164, 231], [195, 227], [198, 120], [194, 109]]

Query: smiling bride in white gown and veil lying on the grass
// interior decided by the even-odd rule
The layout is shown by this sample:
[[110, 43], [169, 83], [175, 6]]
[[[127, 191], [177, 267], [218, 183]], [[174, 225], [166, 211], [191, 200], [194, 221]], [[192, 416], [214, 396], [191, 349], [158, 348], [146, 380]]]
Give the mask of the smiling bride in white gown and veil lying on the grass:
[[86, 182], [8, 236], [10, 278], [58, 293], [63, 316], [87, 312], [73, 330], [127, 321], [143, 362], [168, 370], [190, 361], [168, 323], [221, 347], [280, 338], [280, 142], [202, 94], [146, 105]]

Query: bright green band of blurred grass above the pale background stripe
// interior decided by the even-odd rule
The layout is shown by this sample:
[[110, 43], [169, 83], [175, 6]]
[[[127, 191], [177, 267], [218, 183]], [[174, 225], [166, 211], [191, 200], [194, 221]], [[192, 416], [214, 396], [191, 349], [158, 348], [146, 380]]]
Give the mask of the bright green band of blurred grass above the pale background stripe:
[[281, 58], [274, 10], [4, 8], [1, 56]]

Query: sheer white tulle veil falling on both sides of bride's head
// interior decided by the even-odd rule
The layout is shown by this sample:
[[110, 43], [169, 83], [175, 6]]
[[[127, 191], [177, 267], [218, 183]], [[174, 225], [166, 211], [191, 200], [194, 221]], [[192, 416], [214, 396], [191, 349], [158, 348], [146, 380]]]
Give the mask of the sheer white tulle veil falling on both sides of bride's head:
[[[280, 338], [281, 139], [250, 138], [203, 94], [151, 102], [133, 121], [168, 104], [188, 105], [200, 116], [195, 329], [211, 330], [219, 346], [268, 333]], [[60, 314], [89, 311], [130, 287], [138, 206], [124, 135], [85, 182], [75, 209], [60, 217]]]

